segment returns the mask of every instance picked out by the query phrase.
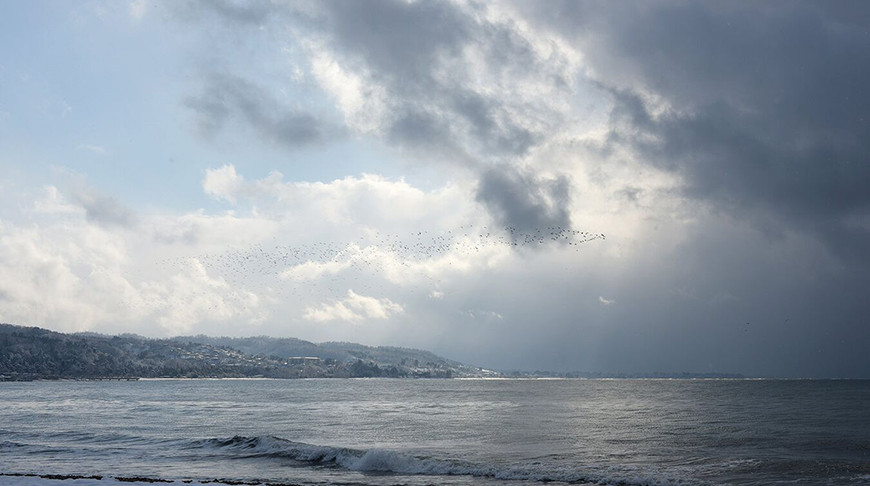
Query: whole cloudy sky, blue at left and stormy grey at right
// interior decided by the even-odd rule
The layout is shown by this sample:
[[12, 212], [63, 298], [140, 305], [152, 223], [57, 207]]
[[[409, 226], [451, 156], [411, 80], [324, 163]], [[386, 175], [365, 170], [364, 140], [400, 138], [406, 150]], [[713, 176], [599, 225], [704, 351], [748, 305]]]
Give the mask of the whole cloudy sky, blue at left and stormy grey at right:
[[0, 322], [870, 378], [870, 4], [0, 1]]

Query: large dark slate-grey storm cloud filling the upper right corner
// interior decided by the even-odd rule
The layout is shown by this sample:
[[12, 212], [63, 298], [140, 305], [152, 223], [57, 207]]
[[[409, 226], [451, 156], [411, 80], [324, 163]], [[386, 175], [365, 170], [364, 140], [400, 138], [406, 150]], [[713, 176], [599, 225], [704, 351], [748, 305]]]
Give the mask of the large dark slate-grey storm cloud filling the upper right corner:
[[720, 209], [770, 214], [845, 252], [870, 243], [849, 223], [870, 210], [866, 2], [551, 6], [533, 15], [578, 40], [613, 94], [612, 143]]

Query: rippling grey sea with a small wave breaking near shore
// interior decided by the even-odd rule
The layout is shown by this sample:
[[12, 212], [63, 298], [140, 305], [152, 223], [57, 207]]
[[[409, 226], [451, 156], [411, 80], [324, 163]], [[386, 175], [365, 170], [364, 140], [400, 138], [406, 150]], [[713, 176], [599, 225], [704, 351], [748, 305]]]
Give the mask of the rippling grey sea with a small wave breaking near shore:
[[3, 478], [866, 485], [870, 381], [0, 383]]

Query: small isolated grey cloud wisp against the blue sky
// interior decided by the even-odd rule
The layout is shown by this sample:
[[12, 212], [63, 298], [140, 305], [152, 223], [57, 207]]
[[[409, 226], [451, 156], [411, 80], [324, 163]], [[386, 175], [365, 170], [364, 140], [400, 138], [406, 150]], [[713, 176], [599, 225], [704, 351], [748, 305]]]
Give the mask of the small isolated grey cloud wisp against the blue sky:
[[247, 122], [262, 139], [286, 148], [321, 143], [327, 132], [338, 133], [310, 113], [280, 107], [253, 83], [225, 74], [209, 75], [202, 93], [188, 97], [184, 104], [196, 114], [197, 128], [206, 136], [213, 136], [233, 117]]

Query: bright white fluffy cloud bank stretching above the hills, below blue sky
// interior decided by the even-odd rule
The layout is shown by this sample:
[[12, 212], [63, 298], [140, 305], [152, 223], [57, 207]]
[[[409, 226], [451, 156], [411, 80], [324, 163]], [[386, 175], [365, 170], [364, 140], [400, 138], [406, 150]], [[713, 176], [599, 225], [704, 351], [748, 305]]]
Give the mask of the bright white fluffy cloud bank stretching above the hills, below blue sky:
[[22, 205], [28, 223], [0, 226], [0, 316], [152, 335], [243, 332], [239, 323], [254, 332], [278, 316], [383, 320], [403, 312], [396, 297], [341, 296], [340, 287], [356, 282], [401, 299], [510, 253], [506, 240], [471, 235], [486, 219], [461, 185], [424, 191], [374, 175], [285, 182], [277, 172], [248, 181], [226, 165], [207, 170], [202, 189], [234, 209], [131, 213], [127, 224], [105, 224], [94, 201], [123, 208], [117, 199], [46, 186]]

